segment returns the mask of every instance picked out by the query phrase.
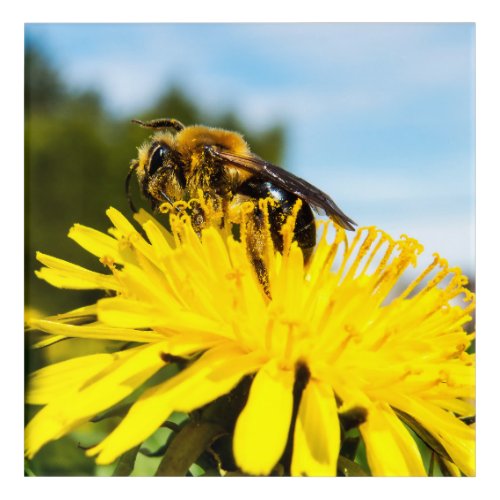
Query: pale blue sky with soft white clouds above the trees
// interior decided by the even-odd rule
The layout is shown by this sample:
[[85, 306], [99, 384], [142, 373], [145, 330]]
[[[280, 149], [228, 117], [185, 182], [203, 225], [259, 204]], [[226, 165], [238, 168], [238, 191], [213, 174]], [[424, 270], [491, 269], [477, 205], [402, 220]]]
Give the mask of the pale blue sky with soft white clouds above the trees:
[[177, 83], [249, 126], [285, 122], [286, 166], [360, 225], [473, 271], [473, 24], [28, 24], [26, 35], [118, 116]]

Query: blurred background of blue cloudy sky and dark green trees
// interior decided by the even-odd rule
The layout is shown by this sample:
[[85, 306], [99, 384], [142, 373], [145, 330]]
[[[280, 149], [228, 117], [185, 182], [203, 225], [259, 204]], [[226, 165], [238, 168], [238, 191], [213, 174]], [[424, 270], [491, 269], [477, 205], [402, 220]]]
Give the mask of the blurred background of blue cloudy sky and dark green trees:
[[[95, 300], [37, 280], [35, 252], [99, 270], [67, 231], [106, 230], [110, 205], [129, 213], [124, 180], [148, 136], [130, 119], [158, 117], [243, 132], [359, 225], [416, 237], [424, 266], [439, 252], [474, 286], [474, 24], [26, 24], [29, 314]], [[27, 365], [64, 359], [63, 344]], [[48, 445], [35, 473], [96, 473], [74, 447], [85, 435], [67, 439], [75, 462]]]

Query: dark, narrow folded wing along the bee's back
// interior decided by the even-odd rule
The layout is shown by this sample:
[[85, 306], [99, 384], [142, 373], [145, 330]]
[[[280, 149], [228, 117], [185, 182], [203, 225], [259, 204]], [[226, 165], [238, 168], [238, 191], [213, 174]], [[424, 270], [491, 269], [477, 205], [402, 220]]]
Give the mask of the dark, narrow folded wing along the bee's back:
[[227, 151], [216, 151], [212, 148], [210, 153], [220, 160], [254, 174], [259, 179], [270, 181], [277, 187], [297, 195], [315, 209], [323, 210], [339, 226], [350, 231], [354, 230], [356, 223], [340, 210], [330, 196], [291, 172], [257, 156], [242, 156]]

